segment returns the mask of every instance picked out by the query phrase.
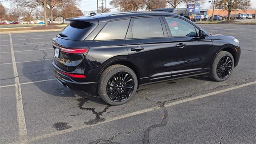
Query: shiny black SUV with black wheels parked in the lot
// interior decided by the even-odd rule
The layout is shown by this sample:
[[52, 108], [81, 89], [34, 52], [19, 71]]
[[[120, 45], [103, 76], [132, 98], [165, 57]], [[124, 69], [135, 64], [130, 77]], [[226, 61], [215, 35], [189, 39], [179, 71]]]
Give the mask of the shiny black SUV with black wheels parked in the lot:
[[114, 12], [69, 18], [53, 39], [53, 72], [72, 90], [96, 90], [110, 105], [139, 85], [208, 74], [226, 80], [240, 58], [238, 40], [211, 35], [170, 12]]

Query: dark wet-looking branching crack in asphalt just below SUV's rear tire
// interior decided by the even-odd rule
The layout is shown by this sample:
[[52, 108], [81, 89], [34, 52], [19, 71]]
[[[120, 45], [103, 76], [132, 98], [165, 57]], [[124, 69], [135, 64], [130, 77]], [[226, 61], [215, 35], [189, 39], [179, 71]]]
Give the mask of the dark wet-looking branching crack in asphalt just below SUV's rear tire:
[[101, 118], [102, 114], [104, 112], [106, 112], [108, 110], [108, 108], [110, 108], [110, 105], [106, 106], [104, 108], [104, 110], [100, 111], [100, 112], [96, 112], [95, 108], [84, 108], [83, 105], [90, 101], [88, 98], [79, 98], [78, 99], [78, 108], [82, 109], [82, 110], [89, 110], [92, 111], [92, 113], [95, 115], [95, 118], [92, 120], [88, 120], [87, 122], [84, 122], [84, 124], [87, 125], [93, 125], [93, 124], [98, 124], [100, 122], [104, 122], [106, 119], [105, 118]]

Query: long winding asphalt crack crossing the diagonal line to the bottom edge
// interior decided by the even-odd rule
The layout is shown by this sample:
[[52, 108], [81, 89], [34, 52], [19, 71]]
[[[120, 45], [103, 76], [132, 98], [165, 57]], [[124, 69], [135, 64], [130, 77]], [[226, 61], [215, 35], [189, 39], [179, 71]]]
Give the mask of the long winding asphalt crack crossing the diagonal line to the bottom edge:
[[153, 101], [153, 100], [149, 100], [148, 98], [145, 98], [143, 96], [139, 96], [141, 98], [144, 98], [150, 102], [153, 102], [153, 103], [156, 103], [160, 106], [160, 108], [162, 108], [162, 110], [164, 111], [164, 114], [162, 114], [162, 121], [158, 124], [153, 124], [151, 125], [150, 127], [148, 127], [145, 132], [144, 132], [144, 138], [142, 140], [143, 144], [150, 144], [150, 132], [154, 129], [154, 128], [157, 128], [157, 127], [160, 127], [160, 126], [166, 126], [167, 124], [167, 117], [168, 117], [168, 111], [166, 110], [166, 107], [164, 106], [165, 102], [156, 102], [156, 101]]

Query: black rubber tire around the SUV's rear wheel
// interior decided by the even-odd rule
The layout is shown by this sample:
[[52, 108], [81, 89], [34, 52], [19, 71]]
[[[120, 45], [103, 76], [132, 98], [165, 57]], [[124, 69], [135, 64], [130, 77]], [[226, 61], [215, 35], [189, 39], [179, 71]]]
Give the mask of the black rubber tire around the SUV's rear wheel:
[[[118, 75], [120, 73], [122, 73], [122, 75], [124, 74], [123, 79], [121, 78], [120, 75]], [[116, 75], [120, 76], [119, 79], [117, 79], [115, 77]], [[121, 86], [124, 86], [125, 84], [127, 87], [127, 83], [125, 83], [124, 85], [116, 84], [117, 83], [116, 79], [117, 79], [117, 81], [120, 80], [120, 82], [122, 81], [122, 83], [124, 83], [124, 80], [128, 79], [125, 76], [130, 76], [128, 78], [131, 78], [134, 82], [134, 85], [131, 84], [132, 82], [129, 82], [130, 84], [128, 84], [129, 87], [133, 87], [132, 92], [131, 92], [132, 88], [130, 88], [128, 90], [126, 88], [121, 87]], [[110, 86], [110, 83], [116, 84], [116, 85], [115, 86], [112, 85], [113, 86], [112, 87], [112, 86]], [[137, 76], [134, 73], [134, 71], [132, 69], [128, 68], [127, 66], [116, 64], [116, 65], [112, 65], [112, 66], [106, 68], [106, 70], [104, 70], [102, 72], [102, 74], [100, 76], [100, 80], [98, 82], [98, 94], [102, 98], [102, 100], [104, 100], [106, 103], [113, 105], [113, 106], [118, 106], [118, 105], [122, 105], [122, 104], [125, 104], [126, 102], [130, 101], [134, 97], [137, 87], [138, 87], [138, 79], [137, 79]], [[112, 88], [112, 89], [109, 89], [109, 88]], [[109, 90], [108, 92], [107, 92], [107, 89]], [[115, 89], [115, 92], [116, 91], [119, 91], [119, 92], [118, 93], [113, 92], [114, 89]], [[116, 89], [118, 89], [118, 90], [116, 90]], [[110, 90], [112, 90], [112, 93], [110, 92]], [[119, 101], [120, 99], [118, 99], [116, 97], [113, 99], [113, 97], [114, 97], [113, 93], [117, 94], [118, 98], [121, 97], [120, 99], [122, 99], [122, 100]], [[128, 95], [126, 95], [126, 94], [128, 94]], [[110, 97], [112, 97], [112, 99]]]

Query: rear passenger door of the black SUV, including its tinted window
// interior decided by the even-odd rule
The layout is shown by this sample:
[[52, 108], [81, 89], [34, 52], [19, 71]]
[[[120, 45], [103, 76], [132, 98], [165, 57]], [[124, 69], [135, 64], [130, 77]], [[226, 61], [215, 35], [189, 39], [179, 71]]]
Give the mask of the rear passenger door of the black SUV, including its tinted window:
[[171, 77], [173, 45], [160, 16], [132, 18], [126, 35], [129, 58], [142, 72], [142, 83]]

